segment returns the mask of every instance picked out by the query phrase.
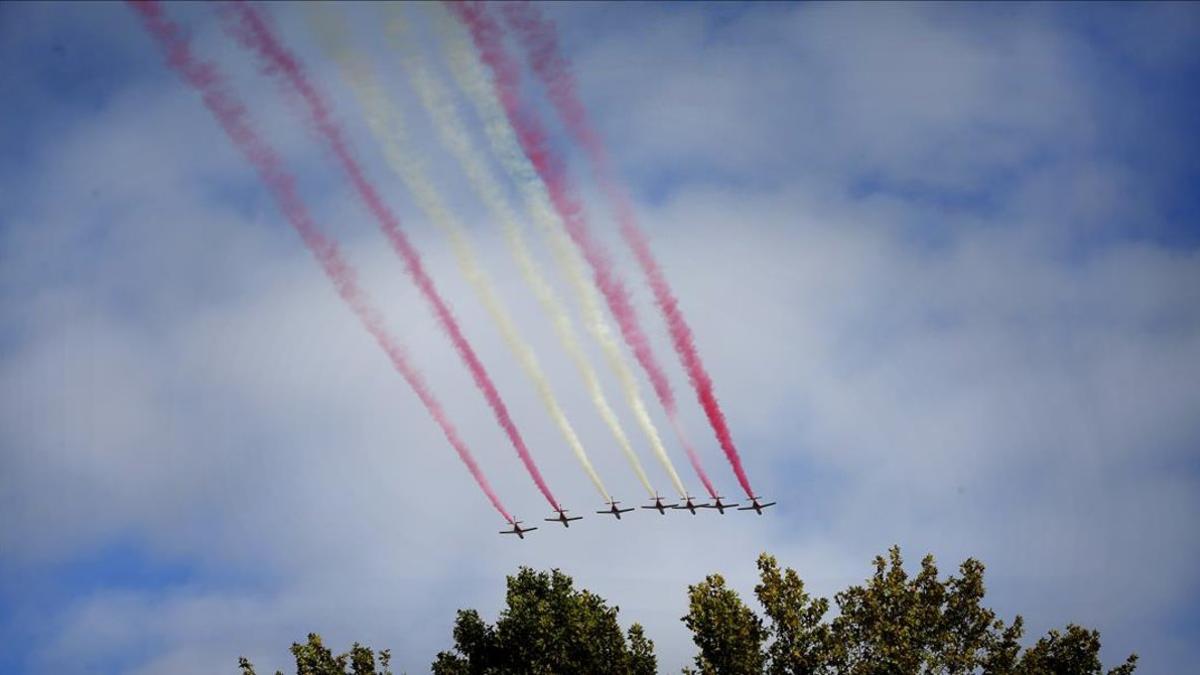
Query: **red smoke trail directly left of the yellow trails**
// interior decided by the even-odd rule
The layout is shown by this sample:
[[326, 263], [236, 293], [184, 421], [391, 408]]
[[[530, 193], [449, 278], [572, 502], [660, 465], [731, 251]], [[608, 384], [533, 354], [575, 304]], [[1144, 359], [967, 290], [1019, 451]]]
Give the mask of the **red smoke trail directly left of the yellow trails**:
[[458, 356], [467, 364], [467, 369], [470, 370], [472, 377], [475, 380], [475, 384], [484, 393], [484, 398], [487, 399], [488, 405], [492, 407], [492, 412], [496, 414], [497, 422], [508, 434], [509, 441], [512, 442], [512, 447], [516, 448], [517, 455], [521, 456], [521, 461], [524, 464], [526, 470], [528, 470], [529, 476], [533, 477], [534, 483], [538, 484], [538, 489], [550, 502], [551, 507], [558, 509], [558, 501], [554, 495], [551, 494], [550, 486], [546, 485], [546, 480], [541, 477], [541, 472], [538, 470], [538, 465], [533, 461], [533, 455], [529, 454], [529, 449], [524, 444], [524, 440], [521, 437], [521, 432], [517, 431], [516, 424], [512, 423], [512, 418], [509, 414], [508, 407], [504, 405], [503, 399], [500, 399], [499, 392], [497, 392], [496, 386], [492, 383], [491, 376], [487, 375], [487, 370], [484, 368], [482, 362], [475, 356], [475, 351], [472, 348], [470, 344], [467, 341], [466, 335], [463, 335], [462, 329], [458, 327], [458, 321], [454, 317], [450, 307], [442, 299], [442, 294], [438, 293], [437, 287], [433, 285], [433, 280], [425, 271], [425, 265], [421, 263], [421, 256], [416, 252], [416, 249], [408, 241], [403, 231], [400, 228], [400, 220], [396, 215], [384, 204], [383, 199], [379, 198], [379, 193], [376, 191], [374, 185], [367, 180], [366, 174], [359, 166], [358, 160], [354, 159], [354, 153], [350, 150], [349, 144], [342, 136], [341, 127], [334, 121], [330, 115], [329, 104], [325, 102], [324, 96], [312, 85], [308, 76], [305, 73], [304, 66], [300, 61], [278, 41], [275, 34], [271, 31], [270, 26], [263, 19], [263, 16], [252, 7], [250, 4], [240, 1], [235, 2], [232, 7], [232, 18], [236, 23], [226, 23], [226, 29], [233, 34], [246, 48], [257, 53], [263, 61], [263, 70], [271, 76], [283, 77], [292, 88], [300, 94], [304, 98], [305, 104], [308, 108], [308, 114], [311, 115], [311, 121], [316, 126], [318, 133], [325, 138], [329, 143], [330, 149], [334, 151], [334, 156], [337, 157], [340, 165], [346, 171], [349, 177], [350, 183], [354, 185], [355, 191], [358, 191], [359, 197], [362, 199], [364, 204], [374, 215], [376, 220], [379, 221], [379, 227], [383, 229], [388, 240], [391, 243], [392, 249], [404, 261], [404, 267], [408, 274], [413, 277], [413, 282], [420, 288], [421, 294], [430, 303], [433, 309], [433, 313], [437, 316], [438, 321], [442, 323], [442, 328], [450, 336], [450, 341], [454, 344], [455, 350]]

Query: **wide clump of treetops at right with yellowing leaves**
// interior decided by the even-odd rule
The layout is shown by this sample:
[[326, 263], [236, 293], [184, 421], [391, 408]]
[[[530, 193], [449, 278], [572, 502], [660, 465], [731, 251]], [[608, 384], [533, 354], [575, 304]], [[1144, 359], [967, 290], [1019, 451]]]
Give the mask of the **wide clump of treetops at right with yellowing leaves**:
[[[973, 558], [956, 575], [938, 579], [932, 556], [910, 577], [900, 549], [875, 558], [865, 585], [835, 597], [839, 615], [826, 621], [829, 602], [812, 598], [793, 569], [758, 557], [755, 596], [767, 623], [720, 577], [689, 587], [683, 617], [700, 647], [704, 674], [742, 675], [1103, 675], [1096, 631], [1069, 625], [1021, 652], [1024, 621], [1012, 625], [983, 605], [984, 566]], [[1130, 675], [1138, 657], [1109, 675]]]

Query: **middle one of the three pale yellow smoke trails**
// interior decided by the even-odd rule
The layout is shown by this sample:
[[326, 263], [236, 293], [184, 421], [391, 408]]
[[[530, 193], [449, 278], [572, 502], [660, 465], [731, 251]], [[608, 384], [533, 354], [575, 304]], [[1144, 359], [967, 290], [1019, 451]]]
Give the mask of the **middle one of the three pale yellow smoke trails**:
[[492, 219], [500, 223], [509, 252], [521, 269], [521, 275], [524, 277], [526, 285], [529, 286], [538, 298], [542, 311], [551, 318], [559, 342], [563, 344], [563, 348], [583, 377], [592, 402], [595, 405], [605, 424], [608, 425], [608, 430], [612, 431], [617, 444], [624, 453], [625, 459], [629, 460], [634, 473], [637, 474], [637, 479], [642, 482], [646, 491], [653, 497], [655, 491], [650, 485], [650, 479], [646, 474], [646, 470], [642, 468], [642, 462], [634, 453], [634, 447], [629, 442], [620, 420], [617, 419], [617, 413], [613, 412], [612, 406], [608, 404], [608, 399], [604, 394], [604, 388], [600, 386], [600, 378], [592, 366], [592, 362], [583, 351], [583, 346], [580, 345], [578, 338], [576, 338], [570, 313], [539, 269], [533, 253], [529, 251], [529, 246], [526, 244], [517, 214], [509, 205], [509, 201], [504, 196], [500, 184], [492, 175], [491, 169], [480, 159], [479, 153], [474, 148], [474, 142], [470, 139], [470, 135], [467, 132], [458, 115], [457, 107], [449, 97], [449, 92], [431, 72], [428, 65], [412, 49], [412, 41], [408, 38], [407, 20], [401, 12], [395, 5], [388, 6], [388, 30], [392, 37], [392, 47], [400, 54], [401, 65], [404, 72], [408, 73], [413, 89], [416, 90], [421, 104], [428, 113], [430, 119], [433, 120], [442, 143], [458, 160], [463, 173], [467, 174], [468, 180], [484, 202], [484, 205], [487, 207]]

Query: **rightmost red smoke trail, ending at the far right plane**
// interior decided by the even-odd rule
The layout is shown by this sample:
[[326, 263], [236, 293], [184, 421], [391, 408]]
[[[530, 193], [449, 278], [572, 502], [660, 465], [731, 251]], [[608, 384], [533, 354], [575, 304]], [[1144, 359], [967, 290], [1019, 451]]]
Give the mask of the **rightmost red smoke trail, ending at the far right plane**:
[[674, 344], [676, 352], [679, 354], [679, 359], [688, 371], [688, 378], [691, 381], [692, 389], [696, 390], [696, 398], [700, 399], [700, 405], [704, 408], [704, 414], [708, 416], [708, 422], [716, 434], [716, 440], [720, 442], [721, 449], [725, 450], [725, 456], [728, 458], [730, 464], [733, 466], [733, 473], [737, 474], [738, 483], [742, 484], [742, 489], [745, 490], [746, 496], [752, 497], [754, 491], [750, 489], [750, 480], [742, 468], [742, 458], [733, 446], [733, 436], [725, 423], [725, 413], [721, 411], [721, 406], [716, 401], [716, 394], [713, 392], [713, 380], [708, 376], [708, 370], [704, 369], [704, 364], [700, 359], [700, 353], [696, 351], [691, 327], [688, 325], [683, 312], [679, 310], [679, 301], [662, 275], [662, 269], [659, 267], [654, 252], [650, 251], [646, 234], [637, 226], [629, 193], [620, 181], [617, 180], [616, 173], [612, 171], [608, 150], [592, 126], [587, 109], [576, 94], [575, 77], [571, 73], [570, 64], [563, 55], [562, 49], [559, 49], [554, 24], [542, 17], [538, 7], [526, 1], [505, 2], [502, 5], [500, 11], [520, 38], [534, 73], [538, 74], [538, 78], [550, 92], [551, 103], [558, 110], [559, 117], [563, 118], [568, 132], [587, 153], [596, 175], [596, 181], [617, 213], [617, 223], [620, 234], [625, 239], [625, 243], [634, 250], [637, 263], [642, 268], [642, 274], [646, 275], [646, 280], [654, 292], [655, 304], [658, 304], [662, 317], [667, 322], [671, 341]]

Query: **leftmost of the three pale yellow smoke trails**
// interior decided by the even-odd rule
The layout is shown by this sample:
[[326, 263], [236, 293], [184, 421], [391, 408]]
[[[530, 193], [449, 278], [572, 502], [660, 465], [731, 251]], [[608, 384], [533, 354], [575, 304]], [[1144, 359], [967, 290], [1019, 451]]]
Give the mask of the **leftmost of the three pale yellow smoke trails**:
[[[313, 4], [310, 6], [319, 7], [320, 5]], [[554, 420], [554, 424], [558, 425], [559, 431], [566, 438], [566, 443], [571, 447], [576, 459], [580, 460], [588, 478], [592, 479], [592, 483], [600, 491], [605, 501], [612, 501], [595, 467], [592, 466], [592, 460], [588, 459], [588, 454], [583, 449], [583, 443], [580, 442], [570, 420], [566, 419], [566, 413], [563, 412], [562, 406], [558, 404], [550, 381], [546, 380], [538, 363], [538, 357], [534, 354], [533, 347], [521, 338], [512, 316], [505, 307], [504, 301], [496, 293], [491, 279], [479, 265], [466, 228], [463, 228], [458, 219], [455, 217], [454, 213], [442, 201], [440, 193], [425, 172], [424, 162], [415, 154], [406, 150], [404, 119], [400, 108], [389, 100], [371, 67], [361, 59], [355, 58], [346, 44], [343, 37], [344, 28], [341, 24], [341, 18], [329, 13], [328, 10], [318, 10], [318, 12], [311, 16], [313, 17], [317, 32], [322, 37], [322, 43], [334, 61], [337, 62], [342, 77], [354, 92], [359, 106], [365, 113], [367, 126], [372, 136], [374, 136], [376, 142], [382, 147], [388, 165], [400, 177], [401, 181], [404, 183], [408, 191], [412, 192], [413, 198], [426, 217], [450, 237], [451, 247], [463, 276], [470, 282], [484, 307], [491, 315], [492, 321], [496, 322], [504, 341], [516, 356], [517, 363], [521, 364], [522, 370], [533, 381], [534, 388], [538, 390], [538, 396], [541, 399], [542, 405], [546, 406], [546, 411]]]

